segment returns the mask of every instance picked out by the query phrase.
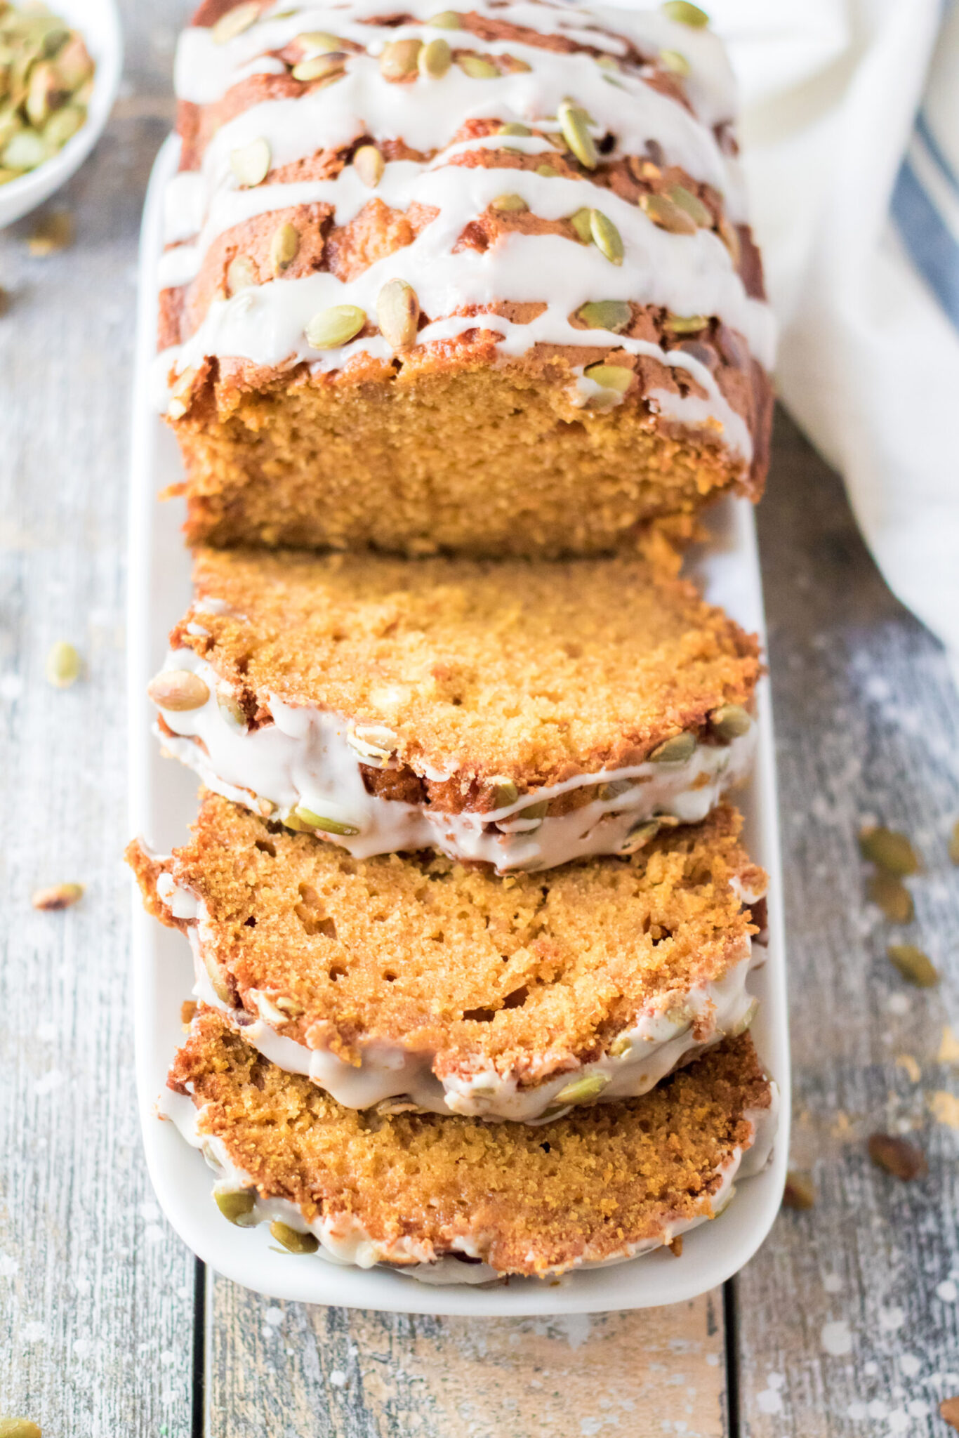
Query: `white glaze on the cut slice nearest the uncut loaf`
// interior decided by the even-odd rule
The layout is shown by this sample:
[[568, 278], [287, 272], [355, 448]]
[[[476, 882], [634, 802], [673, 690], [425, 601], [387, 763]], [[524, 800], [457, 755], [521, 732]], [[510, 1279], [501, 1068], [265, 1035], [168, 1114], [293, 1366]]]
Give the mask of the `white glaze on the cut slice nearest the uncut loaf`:
[[[349, 720], [332, 710], [293, 707], [276, 695], [266, 703], [273, 723], [247, 731], [217, 702], [224, 682], [208, 660], [191, 649], [167, 657], [167, 670], [188, 670], [206, 683], [210, 697], [190, 710], [161, 709], [174, 738], [161, 735], [165, 749], [194, 769], [207, 788], [256, 812], [286, 817], [298, 805], [358, 828], [355, 835], [319, 834], [348, 848], [355, 858], [416, 848], [437, 848], [450, 858], [493, 864], [508, 870], [554, 869], [572, 858], [617, 854], [630, 831], [654, 814], [682, 823], [703, 820], [725, 789], [749, 774], [755, 725], [729, 745], [697, 745], [684, 764], [635, 764], [578, 774], [526, 794], [513, 804], [479, 814], [447, 814], [430, 805], [405, 804], [368, 794], [361, 762], [377, 765], [348, 743]], [[201, 743], [194, 741], [200, 739]], [[206, 748], [204, 748], [206, 746]], [[416, 764], [431, 779], [447, 775]], [[575, 788], [630, 782], [608, 798], [594, 798], [562, 815], [546, 815], [526, 827], [522, 810]]]

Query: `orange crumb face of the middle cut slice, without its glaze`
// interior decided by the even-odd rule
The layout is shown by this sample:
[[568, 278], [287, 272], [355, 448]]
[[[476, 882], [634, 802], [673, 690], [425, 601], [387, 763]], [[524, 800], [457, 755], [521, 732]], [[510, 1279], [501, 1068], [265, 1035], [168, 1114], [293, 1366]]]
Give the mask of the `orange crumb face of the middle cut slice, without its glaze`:
[[[528, 1086], [600, 1058], [648, 1007], [682, 1014], [743, 962], [756, 929], [740, 894], [766, 876], [740, 828], [723, 805], [630, 858], [497, 879], [441, 856], [357, 860], [206, 792], [161, 871], [200, 900], [196, 942], [240, 1022], [265, 995], [290, 1011], [272, 1027], [347, 1063], [384, 1043], [436, 1055], [440, 1080], [492, 1066]], [[185, 928], [158, 905], [150, 856], [127, 857], [151, 912]]]

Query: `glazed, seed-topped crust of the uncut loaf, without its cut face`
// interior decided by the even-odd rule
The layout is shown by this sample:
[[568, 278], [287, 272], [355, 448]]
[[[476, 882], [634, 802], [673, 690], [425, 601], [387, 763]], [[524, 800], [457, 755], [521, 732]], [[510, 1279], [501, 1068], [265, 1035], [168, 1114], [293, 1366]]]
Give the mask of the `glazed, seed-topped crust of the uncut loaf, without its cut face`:
[[500, 362], [565, 354], [581, 406], [644, 367], [654, 411], [748, 463], [772, 322], [705, 16], [434, 6], [206, 0], [184, 32], [171, 417], [213, 361], [243, 388], [370, 378], [482, 335]]

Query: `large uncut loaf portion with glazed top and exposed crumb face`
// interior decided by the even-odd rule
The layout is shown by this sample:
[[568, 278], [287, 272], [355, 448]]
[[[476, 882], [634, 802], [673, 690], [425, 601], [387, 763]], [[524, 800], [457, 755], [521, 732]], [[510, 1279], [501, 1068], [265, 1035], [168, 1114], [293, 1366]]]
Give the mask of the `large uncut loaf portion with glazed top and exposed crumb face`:
[[772, 322], [719, 40], [541, 0], [269, 9], [206, 0], [177, 60], [190, 542], [595, 554], [758, 498]]

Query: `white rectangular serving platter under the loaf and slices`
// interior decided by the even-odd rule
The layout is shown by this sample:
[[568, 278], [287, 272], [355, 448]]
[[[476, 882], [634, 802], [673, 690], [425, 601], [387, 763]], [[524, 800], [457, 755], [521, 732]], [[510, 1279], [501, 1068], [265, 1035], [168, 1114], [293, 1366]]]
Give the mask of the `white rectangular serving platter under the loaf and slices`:
[[[151, 401], [157, 332], [157, 262], [162, 247], [162, 190], [177, 165], [167, 141], [154, 167], [144, 214], [139, 272], [137, 374], [134, 387], [132, 496], [129, 528], [128, 682], [131, 833], [170, 853], [187, 835], [196, 812], [196, 779], [162, 759], [151, 735], [147, 684], [160, 669], [167, 633], [190, 598], [190, 559], [180, 532], [178, 502], [158, 492], [181, 477], [173, 434]], [[717, 506], [713, 536], [697, 557], [709, 598], [745, 628], [763, 636], [762, 590], [752, 509], [745, 500]], [[162, 1209], [185, 1244], [217, 1273], [276, 1299], [401, 1313], [555, 1314], [598, 1313], [680, 1303], [729, 1278], [755, 1254], [776, 1217], [789, 1140], [789, 1047], [786, 1034], [782, 876], [776, 830], [772, 713], [768, 682], [759, 686], [759, 752], [751, 785], [738, 795], [746, 815], [752, 857], [769, 871], [769, 958], [753, 975], [762, 1001], [753, 1037], [781, 1093], [779, 1133], [769, 1166], [739, 1185], [722, 1218], [687, 1234], [683, 1255], [667, 1250], [561, 1280], [510, 1280], [489, 1288], [436, 1287], [384, 1268], [345, 1268], [316, 1255], [277, 1251], [267, 1225], [224, 1222], [211, 1201], [211, 1173], [157, 1102], [174, 1050], [183, 1040], [180, 1005], [190, 997], [193, 965], [185, 940], [150, 919], [134, 893], [132, 962], [137, 1025], [137, 1084], [150, 1176]]]

